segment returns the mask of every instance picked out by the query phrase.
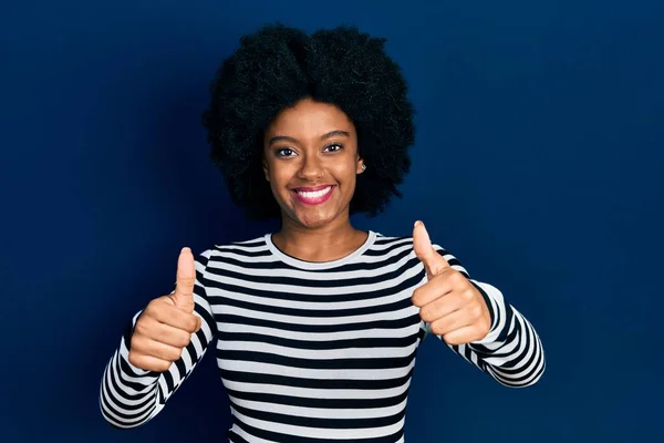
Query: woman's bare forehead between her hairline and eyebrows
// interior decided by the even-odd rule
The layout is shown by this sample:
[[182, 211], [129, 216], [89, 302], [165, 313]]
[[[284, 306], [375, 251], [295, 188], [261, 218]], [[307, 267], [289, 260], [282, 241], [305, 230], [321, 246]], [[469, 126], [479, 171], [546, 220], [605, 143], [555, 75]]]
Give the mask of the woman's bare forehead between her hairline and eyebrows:
[[281, 111], [268, 127], [270, 134], [311, 134], [320, 135], [330, 131], [352, 132], [353, 123], [349, 116], [330, 103], [304, 99], [293, 107]]

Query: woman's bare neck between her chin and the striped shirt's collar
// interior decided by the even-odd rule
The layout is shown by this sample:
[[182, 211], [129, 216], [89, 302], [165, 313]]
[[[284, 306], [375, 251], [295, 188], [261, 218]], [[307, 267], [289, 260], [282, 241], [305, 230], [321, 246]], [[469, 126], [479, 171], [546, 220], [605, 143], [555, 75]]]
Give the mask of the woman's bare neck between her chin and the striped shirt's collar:
[[272, 236], [272, 241], [282, 253], [304, 261], [343, 258], [365, 240], [366, 233], [355, 229], [349, 218], [309, 228], [284, 217], [281, 229]]

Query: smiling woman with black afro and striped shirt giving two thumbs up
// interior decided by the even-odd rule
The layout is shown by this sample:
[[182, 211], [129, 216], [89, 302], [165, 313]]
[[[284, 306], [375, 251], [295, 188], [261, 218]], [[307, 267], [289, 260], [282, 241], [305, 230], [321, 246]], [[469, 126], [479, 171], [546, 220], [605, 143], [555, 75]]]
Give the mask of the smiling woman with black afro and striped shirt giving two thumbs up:
[[273, 234], [184, 248], [175, 290], [131, 322], [101, 409], [117, 427], [153, 419], [215, 340], [231, 442], [402, 442], [427, 333], [498, 382], [536, 383], [539, 338], [495, 287], [432, 245], [355, 229], [409, 168], [413, 110], [384, 40], [351, 28], [271, 25], [224, 62], [205, 113], [234, 202]]

